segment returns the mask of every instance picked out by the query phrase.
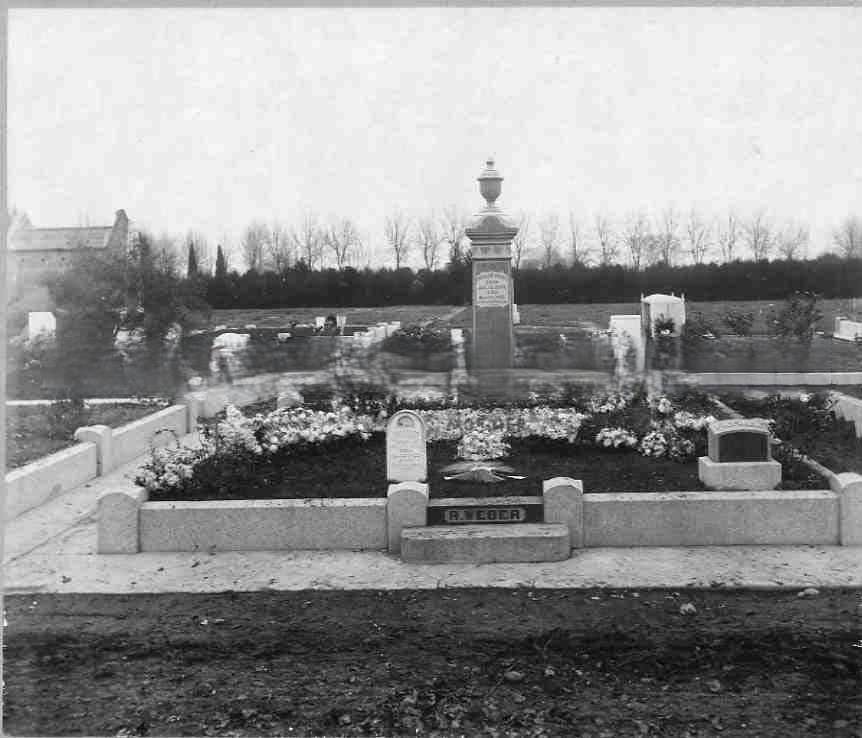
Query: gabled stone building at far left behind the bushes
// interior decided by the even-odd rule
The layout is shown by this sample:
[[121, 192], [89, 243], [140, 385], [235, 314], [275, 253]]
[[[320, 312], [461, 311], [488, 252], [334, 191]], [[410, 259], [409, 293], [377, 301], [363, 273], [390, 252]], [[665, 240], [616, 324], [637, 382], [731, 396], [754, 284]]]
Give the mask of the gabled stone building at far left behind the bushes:
[[126, 252], [129, 218], [118, 210], [112, 226], [33, 228], [12, 224], [6, 252], [6, 301], [16, 312], [50, 311], [51, 297], [42, 280], [72, 263], [83, 249]]

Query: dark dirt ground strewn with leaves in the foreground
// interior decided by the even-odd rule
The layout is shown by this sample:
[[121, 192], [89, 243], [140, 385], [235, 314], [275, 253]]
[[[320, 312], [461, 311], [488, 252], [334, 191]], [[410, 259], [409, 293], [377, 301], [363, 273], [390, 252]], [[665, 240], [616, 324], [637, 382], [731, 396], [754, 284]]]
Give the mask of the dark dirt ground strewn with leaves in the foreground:
[[862, 736], [860, 591], [5, 605], [8, 735]]

